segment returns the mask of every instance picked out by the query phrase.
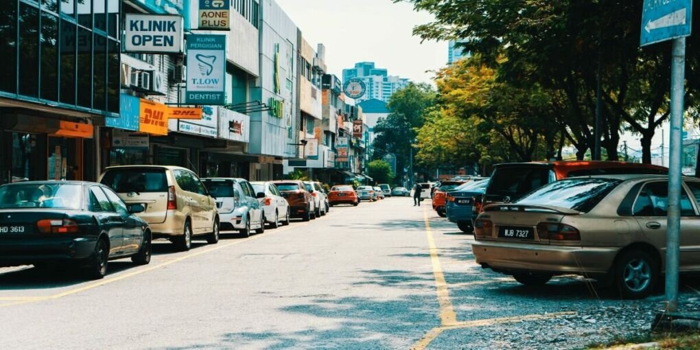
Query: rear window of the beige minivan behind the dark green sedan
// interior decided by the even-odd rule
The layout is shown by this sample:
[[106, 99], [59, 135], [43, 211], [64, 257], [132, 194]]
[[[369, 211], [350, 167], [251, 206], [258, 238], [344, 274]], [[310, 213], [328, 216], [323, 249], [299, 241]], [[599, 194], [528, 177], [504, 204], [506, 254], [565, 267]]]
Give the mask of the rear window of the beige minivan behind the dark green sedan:
[[116, 193], [168, 191], [165, 169], [111, 169], [101, 182]]

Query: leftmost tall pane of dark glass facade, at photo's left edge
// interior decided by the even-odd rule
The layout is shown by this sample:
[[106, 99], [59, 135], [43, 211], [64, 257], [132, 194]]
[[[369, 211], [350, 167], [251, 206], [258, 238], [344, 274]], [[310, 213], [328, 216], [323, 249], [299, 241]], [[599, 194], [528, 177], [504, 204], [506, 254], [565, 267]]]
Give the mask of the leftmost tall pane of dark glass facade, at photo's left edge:
[[0, 64], [0, 90], [17, 92], [17, 2], [0, 1], [0, 52], [3, 64]]

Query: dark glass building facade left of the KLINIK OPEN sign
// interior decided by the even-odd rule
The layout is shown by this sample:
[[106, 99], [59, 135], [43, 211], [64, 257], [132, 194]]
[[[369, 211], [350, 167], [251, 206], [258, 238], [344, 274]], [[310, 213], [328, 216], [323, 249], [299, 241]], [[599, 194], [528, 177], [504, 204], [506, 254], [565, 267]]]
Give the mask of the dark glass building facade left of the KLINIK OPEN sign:
[[0, 93], [119, 113], [120, 0], [0, 1]]

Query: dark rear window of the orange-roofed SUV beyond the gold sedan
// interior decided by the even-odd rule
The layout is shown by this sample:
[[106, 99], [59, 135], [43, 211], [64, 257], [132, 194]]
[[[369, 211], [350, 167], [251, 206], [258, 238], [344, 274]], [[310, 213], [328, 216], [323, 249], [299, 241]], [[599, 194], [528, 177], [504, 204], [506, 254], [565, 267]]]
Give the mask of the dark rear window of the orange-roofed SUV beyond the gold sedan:
[[499, 167], [493, 171], [486, 195], [515, 200], [545, 186], [550, 179], [554, 179], [554, 173], [547, 167]]

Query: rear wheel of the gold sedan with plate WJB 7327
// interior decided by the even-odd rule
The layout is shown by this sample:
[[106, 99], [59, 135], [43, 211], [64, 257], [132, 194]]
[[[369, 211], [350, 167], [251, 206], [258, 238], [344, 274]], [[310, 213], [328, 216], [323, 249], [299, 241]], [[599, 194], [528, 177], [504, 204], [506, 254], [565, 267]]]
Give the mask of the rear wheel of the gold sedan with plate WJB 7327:
[[626, 251], [615, 260], [615, 285], [625, 299], [641, 299], [654, 292], [659, 263], [645, 251]]

